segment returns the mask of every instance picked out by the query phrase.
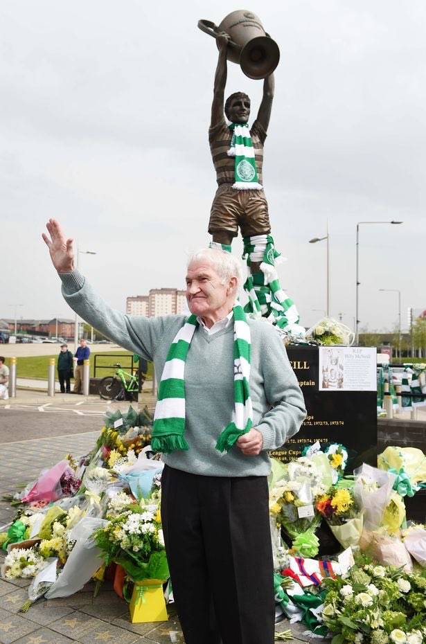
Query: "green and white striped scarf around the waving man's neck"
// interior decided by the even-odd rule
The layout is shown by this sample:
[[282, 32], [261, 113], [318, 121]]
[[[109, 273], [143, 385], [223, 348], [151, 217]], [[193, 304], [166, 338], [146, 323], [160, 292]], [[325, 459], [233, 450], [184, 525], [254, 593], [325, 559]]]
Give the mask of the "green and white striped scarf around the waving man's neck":
[[[170, 345], [154, 413], [151, 441], [153, 451], [170, 454], [176, 449], [189, 449], [185, 440], [185, 363], [197, 325], [197, 316], [190, 315]], [[242, 306], [237, 304], [233, 307], [234, 420], [227, 424], [218, 437], [216, 449], [219, 451], [229, 451], [236, 440], [253, 427], [249, 388], [250, 356], [250, 328]]]

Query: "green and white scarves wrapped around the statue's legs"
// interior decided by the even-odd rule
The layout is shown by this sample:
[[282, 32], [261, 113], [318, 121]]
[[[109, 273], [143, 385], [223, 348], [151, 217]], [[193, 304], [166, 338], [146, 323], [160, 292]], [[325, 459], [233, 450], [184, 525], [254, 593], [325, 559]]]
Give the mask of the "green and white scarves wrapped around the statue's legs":
[[[281, 330], [304, 334], [299, 326], [299, 313], [291, 298], [281, 288], [276, 264], [281, 254], [275, 249], [272, 235], [256, 235], [244, 238], [243, 259], [247, 265], [261, 262], [261, 273], [254, 273], [247, 278], [244, 289], [249, 297], [245, 311], [260, 314]], [[277, 261], [278, 260], [278, 261]]]

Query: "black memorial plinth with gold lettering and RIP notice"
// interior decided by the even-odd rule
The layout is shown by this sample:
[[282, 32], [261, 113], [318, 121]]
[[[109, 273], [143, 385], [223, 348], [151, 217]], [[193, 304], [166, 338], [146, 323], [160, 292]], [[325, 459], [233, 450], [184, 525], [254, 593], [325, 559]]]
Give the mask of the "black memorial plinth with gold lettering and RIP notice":
[[[274, 449], [269, 454], [287, 462], [301, 456], [303, 447], [312, 445], [317, 440], [324, 447], [331, 442], [339, 442], [348, 450], [346, 472], [351, 472], [362, 463], [376, 467], [377, 395], [375, 384], [370, 385], [368, 378], [368, 370], [371, 371], [371, 349], [364, 352], [362, 348], [354, 347], [345, 354], [346, 359], [362, 363], [358, 368], [360, 388], [374, 386], [371, 391], [354, 391], [353, 388], [357, 386], [353, 375], [356, 369], [352, 364], [346, 367], [346, 373], [350, 372], [350, 391], [339, 386], [339, 364], [332, 365], [337, 367], [337, 372], [332, 374], [332, 386], [322, 388], [324, 381], [327, 382], [327, 377], [324, 378], [321, 371], [320, 382], [319, 352], [323, 352], [321, 365], [325, 364], [323, 368], [326, 369], [327, 357], [334, 356], [331, 351], [328, 352], [328, 356], [324, 356], [324, 351], [328, 349], [332, 350], [312, 346], [287, 347], [287, 355], [303, 392], [308, 415], [299, 433], [289, 438], [280, 449]], [[339, 355], [339, 352], [335, 353]], [[364, 366], [367, 363], [369, 366]], [[344, 373], [344, 370], [343, 364], [341, 371]], [[346, 380], [348, 382], [348, 379]]]

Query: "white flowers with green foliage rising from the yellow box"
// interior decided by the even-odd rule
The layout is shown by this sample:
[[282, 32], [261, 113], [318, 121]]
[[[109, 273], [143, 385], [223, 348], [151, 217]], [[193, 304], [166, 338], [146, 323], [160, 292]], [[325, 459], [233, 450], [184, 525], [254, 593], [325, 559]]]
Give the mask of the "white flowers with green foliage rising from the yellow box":
[[128, 506], [94, 533], [105, 564], [120, 564], [132, 581], [169, 576], [158, 506]]

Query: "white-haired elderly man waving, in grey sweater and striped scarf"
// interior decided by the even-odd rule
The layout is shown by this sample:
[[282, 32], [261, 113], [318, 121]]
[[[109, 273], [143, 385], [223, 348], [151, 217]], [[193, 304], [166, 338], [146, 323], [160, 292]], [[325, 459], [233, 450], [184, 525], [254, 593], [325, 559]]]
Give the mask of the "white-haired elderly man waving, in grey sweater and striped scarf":
[[267, 450], [305, 418], [276, 330], [236, 303], [241, 269], [229, 253], [190, 258], [190, 316], [143, 318], [109, 308], [74, 270], [72, 240], [55, 220], [47, 229], [66, 302], [161, 375], [152, 446], [166, 463], [161, 515], [186, 643], [272, 644]]

